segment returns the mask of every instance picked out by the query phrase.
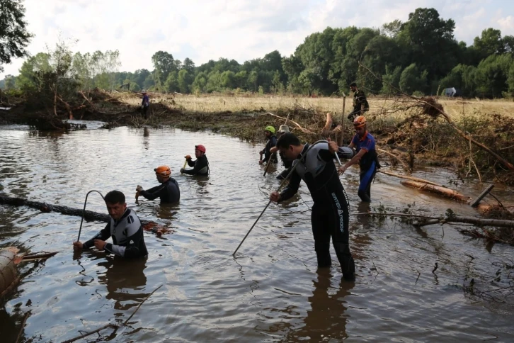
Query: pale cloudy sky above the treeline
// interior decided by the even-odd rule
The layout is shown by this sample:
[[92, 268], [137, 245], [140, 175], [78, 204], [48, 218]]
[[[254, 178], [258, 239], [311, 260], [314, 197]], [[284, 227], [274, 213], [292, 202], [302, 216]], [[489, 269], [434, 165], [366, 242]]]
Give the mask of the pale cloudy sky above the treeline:
[[[406, 21], [418, 7], [433, 7], [456, 23], [468, 45], [484, 28], [514, 35], [514, 1], [503, 0], [25, 0], [35, 37], [30, 54], [55, 45], [59, 34], [79, 42], [74, 51], [120, 50], [120, 70], [152, 69], [154, 52], [192, 59], [219, 57], [242, 63], [278, 50], [290, 55], [307, 35], [331, 27], [375, 27]], [[358, 7], [355, 7], [358, 4]], [[23, 60], [5, 64], [18, 74]]]

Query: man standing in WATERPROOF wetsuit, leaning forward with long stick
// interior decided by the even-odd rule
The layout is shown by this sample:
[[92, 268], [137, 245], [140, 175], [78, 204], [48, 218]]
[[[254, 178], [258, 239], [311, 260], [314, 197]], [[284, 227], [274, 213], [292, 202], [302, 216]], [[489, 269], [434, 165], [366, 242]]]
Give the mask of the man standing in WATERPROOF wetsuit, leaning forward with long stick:
[[314, 200], [311, 223], [318, 267], [332, 264], [329, 251], [332, 237], [343, 278], [353, 281], [355, 264], [348, 243], [348, 197], [333, 163], [334, 152], [338, 151], [336, 142], [302, 145], [295, 135], [285, 133], [278, 140], [277, 147], [285, 158], [293, 160], [295, 171], [282, 193], [275, 191], [270, 194], [270, 201], [279, 203], [291, 198], [303, 179]]

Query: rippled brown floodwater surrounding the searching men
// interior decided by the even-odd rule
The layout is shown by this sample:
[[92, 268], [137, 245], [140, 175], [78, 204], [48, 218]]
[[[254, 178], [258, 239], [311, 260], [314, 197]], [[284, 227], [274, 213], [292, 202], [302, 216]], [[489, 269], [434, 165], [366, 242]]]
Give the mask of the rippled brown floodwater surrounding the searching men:
[[[416, 230], [409, 223], [367, 218], [357, 197], [358, 169], [343, 176], [350, 198], [350, 247], [355, 283], [341, 281], [335, 253], [317, 271], [307, 187], [272, 204], [236, 254], [232, 252], [278, 187], [263, 176], [258, 151], [232, 137], [182, 130], [96, 129], [41, 133], [0, 127], [0, 184], [9, 196], [82, 208], [91, 189], [118, 189], [140, 218], [173, 233], [145, 232], [146, 260], [103, 252], [74, 254], [79, 217], [0, 205], [0, 248], [59, 252], [44, 263], [20, 265], [23, 279], [0, 303], [0, 341], [62, 342], [108, 323], [113, 342], [513, 342], [513, 247], [486, 244], [452, 225]], [[211, 175], [179, 174], [194, 145], [207, 147]], [[155, 186], [154, 167], [168, 164], [181, 188], [176, 206], [135, 203], [137, 184]], [[282, 166], [278, 167], [278, 171]], [[444, 169], [418, 176], [476, 196], [481, 186]], [[514, 200], [512, 189], [496, 196]], [[88, 210], [106, 213], [97, 193]], [[428, 196], [378, 175], [371, 210], [476, 215], [469, 206]], [[103, 223], [84, 223], [81, 240]], [[435, 263], [438, 269], [433, 272]], [[512, 274], [511, 274], [512, 271]], [[500, 289], [502, 288], [502, 289]], [[499, 290], [498, 290], [499, 289]], [[81, 341], [81, 342], [84, 342]]]

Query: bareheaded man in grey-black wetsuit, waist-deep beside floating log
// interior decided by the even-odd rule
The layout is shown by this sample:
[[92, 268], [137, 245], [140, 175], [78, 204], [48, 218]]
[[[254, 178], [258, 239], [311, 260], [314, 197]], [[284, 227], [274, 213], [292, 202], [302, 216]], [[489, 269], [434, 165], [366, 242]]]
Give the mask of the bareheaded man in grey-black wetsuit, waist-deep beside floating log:
[[[89, 249], [94, 246], [100, 251], [120, 257], [147, 256], [141, 222], [134, 210], [127, 208], [125, 194], [120, 191], [110, 191], [105, 195], [104, 200], [110, 215], [109, 223], [91, 240], [84, 243], [74, 242], [74, 250]], [[113, 243], [105, 242], [109, 237], [112, 237]]]

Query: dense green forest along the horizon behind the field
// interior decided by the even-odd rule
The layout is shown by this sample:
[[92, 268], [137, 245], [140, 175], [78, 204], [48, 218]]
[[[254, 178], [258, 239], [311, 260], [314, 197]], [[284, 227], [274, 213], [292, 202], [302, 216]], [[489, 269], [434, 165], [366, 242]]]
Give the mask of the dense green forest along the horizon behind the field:
[[[170, 52], [152, 56], [152, 71], [119, 72], [117, 50], [82, 54], [59, 43], [53, 51], [28, 57], [18, 76], [0, 81], [4, 89], [41, 90], [49, 80], [81, 89], [127, 89], [200, 94], [252, 91], [260, 94], [348, 93], [356, 81], [370, 94], [433, 95], [455, 87], [462, 96], [514, 96], [514, 36], [487, 28], [467, 46], [454, 37], [455, 22], [435, 9], [416, 9], [409, 20], [382, 28], [326, 28], [305, 38], [289, 57], [278, 50], [239, 64], [220, 58], [196, 66]], [[54, 75], [49, 77], [49, 75]], [[50, 85], [51, 86], [51, 85]]]

